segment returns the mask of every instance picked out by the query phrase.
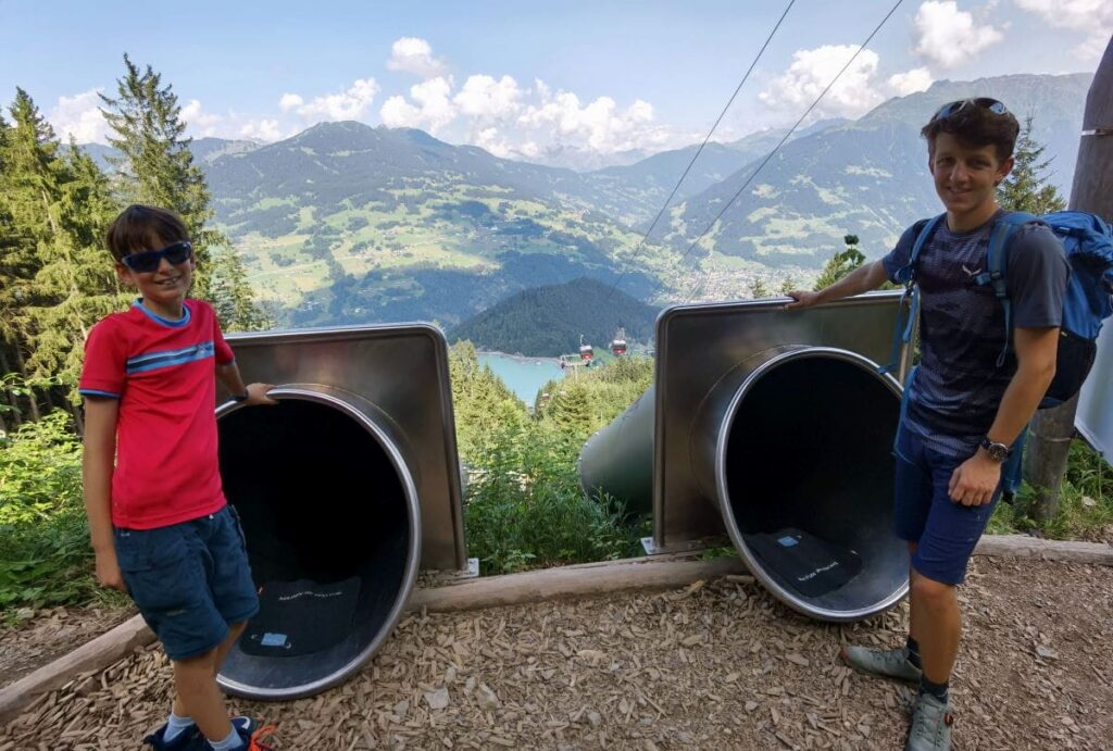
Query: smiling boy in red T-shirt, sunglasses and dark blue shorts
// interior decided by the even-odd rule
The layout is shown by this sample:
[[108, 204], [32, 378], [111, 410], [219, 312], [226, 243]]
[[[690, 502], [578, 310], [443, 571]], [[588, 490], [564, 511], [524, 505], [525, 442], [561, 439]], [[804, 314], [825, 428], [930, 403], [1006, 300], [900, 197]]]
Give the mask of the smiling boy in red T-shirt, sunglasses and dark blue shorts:
[[263, 750], [249, 719], [229, 721], [216, 684], [258, 600], [220, 484], [214, 366], [235, 401], [276, 402], [267, 384], [244, 386], [213, 308], [186, 298], [194, 255], [181, 219], [130, 206], [108, 248], [141, 297], [86, 343], [85, 503], [97, 579], [131, 595], [174, 665], [170, 719], [146, 742]]

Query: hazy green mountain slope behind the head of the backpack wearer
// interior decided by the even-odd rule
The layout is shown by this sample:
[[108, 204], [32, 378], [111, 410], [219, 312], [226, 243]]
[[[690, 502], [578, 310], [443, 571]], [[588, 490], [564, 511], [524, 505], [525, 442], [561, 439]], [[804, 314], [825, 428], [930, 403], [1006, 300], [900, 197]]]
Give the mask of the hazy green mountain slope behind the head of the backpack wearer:
[[[772, 267], [818, 268], [861, 238], [878, 257], [917, 218], [940, 210], [927, 172], [919, 129], [939, 105], [972, 96], [1005, 101], [1055, 160], [1053, 181], [1067, 195], [1077, 134], [1091, 76], [1006, 76], [967, 82], [939, 81], [929, 90], [892, 99], [859, 120], [787, 144], [712, 227], [692, 256], [715, 268], [746, 259]], [[747, 165], [692, 196], [654, 237], [687, 248], [758, 167]]]

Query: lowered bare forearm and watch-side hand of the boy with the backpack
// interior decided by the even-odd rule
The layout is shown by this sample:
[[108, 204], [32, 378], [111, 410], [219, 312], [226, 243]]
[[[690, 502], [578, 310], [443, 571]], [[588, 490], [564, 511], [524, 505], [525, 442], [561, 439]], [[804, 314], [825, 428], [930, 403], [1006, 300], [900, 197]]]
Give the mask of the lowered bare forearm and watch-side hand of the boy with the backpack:
[[[1058, 327], [1016, 328], [1013, 330], [1013, 347], [1016, 350], [1016, 373], [1008, 382], [988, 433], [989, 441], [1005, 445], [1016, 441], [1055, 377]], [[964, 506], [977, 506], [993, 498], [999, 482], [1001, 463], [989, 458], [984, 448], [978, 448], [974, 456], [955, 468], [947, 491], [952, 501]]]

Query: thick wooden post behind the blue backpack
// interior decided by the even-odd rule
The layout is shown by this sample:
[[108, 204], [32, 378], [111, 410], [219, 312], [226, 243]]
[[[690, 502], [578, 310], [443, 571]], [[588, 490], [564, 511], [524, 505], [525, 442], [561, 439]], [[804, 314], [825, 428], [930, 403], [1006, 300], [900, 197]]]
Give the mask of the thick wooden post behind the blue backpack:
[[[1113, 38], [1086, 95], [1070, 208], [1113, 221]], [[1024, 475], [1036, 492], [1032, 513], [1038, 521], [1050, 520], [1058, 511], [1060, 485], [1074, 437], [1077, 406], [1075, 396], [1062, 406], [1036, 412], [1032, 419]]]

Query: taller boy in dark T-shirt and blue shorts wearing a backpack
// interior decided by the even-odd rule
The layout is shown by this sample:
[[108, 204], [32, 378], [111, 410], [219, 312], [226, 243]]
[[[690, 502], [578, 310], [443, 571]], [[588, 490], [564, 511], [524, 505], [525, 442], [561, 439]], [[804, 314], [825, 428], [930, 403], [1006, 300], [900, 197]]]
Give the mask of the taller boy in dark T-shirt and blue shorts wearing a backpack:
[[[1009, 241], [1009, 353], [1001, 300], [974, 277], [986, 268], [988, 233], [1002, 214], [996, 187], [1013, 167], [1020, 126], [999, 101], [942, 107], [923, 128], [928, 170], [946, 223], [917, 261], [920, 363], [905, 392], [896, 439], [896, 532], [912, 553], [912, 614], [904, 648], [850, 646], [843, 659], [874, 674], [918, 682], [906, 749], [949, 749], [947, 683], [961, 634], [956, 587], [1001, 495], [1001, 465], [1055, 373], [1070, 267], [1040, 224]], [[880, 260], [818, 291], [792, 291], [798, 309], [905, 281], [915, 230]]]

